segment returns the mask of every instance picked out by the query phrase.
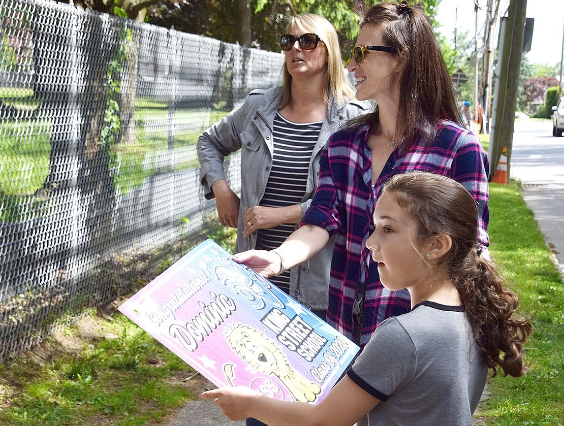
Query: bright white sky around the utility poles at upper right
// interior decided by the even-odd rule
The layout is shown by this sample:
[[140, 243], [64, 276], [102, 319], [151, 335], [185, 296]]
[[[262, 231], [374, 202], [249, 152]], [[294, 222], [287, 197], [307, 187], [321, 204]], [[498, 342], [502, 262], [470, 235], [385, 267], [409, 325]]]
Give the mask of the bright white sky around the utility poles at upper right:
[[[486, 0], [476, 0], [484, 10]], [[509, 6], [509, 0], [501, 0], [500, 16]], [[556, 65], [562, 56], [562, 34], [564, 32], [564, 0], [528, 0], [527, 17], [535, 19], [532, 35], [531, 51], [527, 53], [531, 64]], [[474, 0], [442, 0], [439, 3], [437, 20], [441, 24], [440, 31], [448, 39], [453, 38], [455, 23], [459, 33], [468, 31], [474, 37]], [[485, 13], [478, 11], [478, 37], [483, 38]], [[499, 34], [499, 26], [496, 29]], [[479, 42], [478, 42], [479, 43]]]

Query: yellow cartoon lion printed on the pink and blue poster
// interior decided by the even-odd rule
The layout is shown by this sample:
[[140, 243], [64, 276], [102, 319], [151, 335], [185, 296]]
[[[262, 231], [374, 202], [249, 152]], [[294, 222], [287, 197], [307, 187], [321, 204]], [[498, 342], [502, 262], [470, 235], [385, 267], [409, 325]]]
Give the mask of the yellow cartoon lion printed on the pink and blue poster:
[[225, 334], [237, 355], [262, 374], [277, 376], [297, 401], [314, 402], [321, 393], [321, 387], [294, 370], [275, 341], [262, 332], [248, 325], [232, 324]]

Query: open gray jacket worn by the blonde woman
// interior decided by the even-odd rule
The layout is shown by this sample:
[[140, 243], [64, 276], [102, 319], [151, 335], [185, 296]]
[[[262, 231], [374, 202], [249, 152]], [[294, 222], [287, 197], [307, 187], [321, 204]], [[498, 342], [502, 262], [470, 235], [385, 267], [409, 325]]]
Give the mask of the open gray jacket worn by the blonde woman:
[[[208, 128], [198, 139], [200, 178], [208, 199], [214, 197], [211, 184], [219, 179], [226, 179], [223, 171], [224, 158], [242, 149], [236, 252], [251, 250], [257, 243], [256, 233], [248, 238], [243, 237], [243, 214], [246, 209], [258, 205], [265, 193], [274, 150], [272, 125], [281, 97], [281, 87], [252, 91], [243, 105]], [[306, 194], [301, 202], [302, 216], [310, 206], [317, 188], [321, 150], [329, 136], [366, 108], [367, 105], [354, 99], [346, 105], [337, 105], [333, 99], [329, 102], [327, 118], [321, 126], [319, 139], [310, 159]], [[327, 309], [333, 246], [334, 237], [314, 258], [290, 270], [290, 295], [310, 309]]]

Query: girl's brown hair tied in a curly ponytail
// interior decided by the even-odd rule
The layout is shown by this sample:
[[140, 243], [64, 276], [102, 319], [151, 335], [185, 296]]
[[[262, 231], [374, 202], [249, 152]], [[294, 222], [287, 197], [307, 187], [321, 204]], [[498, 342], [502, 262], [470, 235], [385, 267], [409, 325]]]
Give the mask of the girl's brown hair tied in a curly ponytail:
[[391, 177], [383, 191], [393, 192], [418, 226], [418, 243], [437, 234], [451, 237], [442, 262], [460, 294], [462, 306], [488, 367], [521, 376], [523, 343], [531, 323], [515, 316], [517, 296], [507, 289], [495, 266], [479, 256], [478, 209], [470, 193], [446, 176], [409, 172]]

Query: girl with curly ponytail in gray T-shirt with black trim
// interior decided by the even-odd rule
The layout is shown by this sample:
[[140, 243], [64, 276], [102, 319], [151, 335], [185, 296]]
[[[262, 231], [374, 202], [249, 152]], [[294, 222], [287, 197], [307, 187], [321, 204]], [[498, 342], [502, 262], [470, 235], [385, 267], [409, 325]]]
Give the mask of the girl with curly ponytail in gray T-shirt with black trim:
[[384, 185], [367, 247], [382, 284], [406, 289], [411, 311], [386, 319], [318, 405], [283, 402], [245, 387], [202, 393], [232, 420], [270, 426], [472, 425], [488, 367], [525, 374], [531, 325], [517, 296], [479, 255], [478, 208], [446, 176], [408, 172]]

